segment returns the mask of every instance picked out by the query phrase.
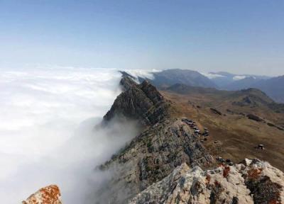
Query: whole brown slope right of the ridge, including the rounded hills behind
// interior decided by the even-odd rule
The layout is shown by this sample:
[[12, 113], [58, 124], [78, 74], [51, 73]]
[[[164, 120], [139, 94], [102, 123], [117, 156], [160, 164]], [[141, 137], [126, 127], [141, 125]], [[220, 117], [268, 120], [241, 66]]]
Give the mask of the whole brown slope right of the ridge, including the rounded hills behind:
[[[173, 102], [179, 111], [177, 115], [191, 118], [210, 130], [211, 137], [203, 144], [212, 155], [234, 162], [257, 157], [284, 170], [284, 104], [270, 103], [271, 98], [258, 89], [210, 90], [208, 94], [205, 91], [202, 94], [161, 92]], [[252, 120], [256, 117], [251, 115], [261, 118], [261, 122]], [[255, 148], [258, 144], [265, 145], [266, 149], [258, 151]]]

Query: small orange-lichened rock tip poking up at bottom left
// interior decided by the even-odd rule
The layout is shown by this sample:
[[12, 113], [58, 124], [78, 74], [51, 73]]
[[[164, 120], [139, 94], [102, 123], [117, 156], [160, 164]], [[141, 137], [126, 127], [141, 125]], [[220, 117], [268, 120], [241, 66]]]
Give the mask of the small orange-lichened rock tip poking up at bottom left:
[[39, 191], [33, 193], [30, 197], [22, 202], [23, 204], [62, 204], [60, 198], [60, 190], [58, 186], [50, 185], [40, 188]]

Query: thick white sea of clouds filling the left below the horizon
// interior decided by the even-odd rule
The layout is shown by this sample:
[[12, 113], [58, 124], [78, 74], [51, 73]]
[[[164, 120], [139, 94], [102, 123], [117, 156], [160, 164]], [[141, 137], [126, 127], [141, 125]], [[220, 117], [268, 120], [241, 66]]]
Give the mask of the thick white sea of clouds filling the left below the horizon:
[[2, 203], [53, 183], [64, 203], [94, 203], [106, 176], [95, 167], [138, 131], [135, 122], [95, 128], [121, 93], [120, 78], [116, 69], [0, 69]]

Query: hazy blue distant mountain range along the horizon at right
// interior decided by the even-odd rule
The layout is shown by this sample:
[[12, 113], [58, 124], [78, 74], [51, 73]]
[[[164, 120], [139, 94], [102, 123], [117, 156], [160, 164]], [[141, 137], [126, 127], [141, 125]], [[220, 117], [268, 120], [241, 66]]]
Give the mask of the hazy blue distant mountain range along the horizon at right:
[[[188, 69], [168, 69], [153, 72], [153, 79], [148, 79], [159, 89], [167, 89], [175, 84], [214, 88], [226, 91], [256, 88], [265, 92], [275, 102], [284, 103], [284, 75], [267, 77], [251, 74], [231, 74], [228, 72], [209, 72], [202, 74]], [[140, 81], [143, 78], [140, 78]]]

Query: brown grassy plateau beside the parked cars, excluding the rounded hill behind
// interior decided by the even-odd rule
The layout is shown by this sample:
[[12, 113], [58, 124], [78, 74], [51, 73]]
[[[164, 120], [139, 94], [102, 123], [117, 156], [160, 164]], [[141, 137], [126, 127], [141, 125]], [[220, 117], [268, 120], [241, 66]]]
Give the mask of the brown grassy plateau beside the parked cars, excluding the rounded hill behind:
[[[234, 109], [237, 113], [258, 113], [263, 118], [273, 120], [273, 123], [281, 124], [284, 121], [283, 113], [273, 113], [259, 107], [232, 106], [231, 99], [220, 98], [214, 94], [175, 94], [167, 91], [161, 93], [173, 102], [173, 116], [195, 120], [201, 130], [202, 127], [209, 128], [210, 135], [204, 145], [212, 155], [231, 159], [233, 162], [256, 157], [284, 171], [284, 131], [263, 122], [249, 120], [244, 115], [228, 114], [226, 109]], [[225, 115], [212, 113], [211, 107], [217, 108]], [[265, 145], [265, 149], [256, 149], [258, 144]]]

